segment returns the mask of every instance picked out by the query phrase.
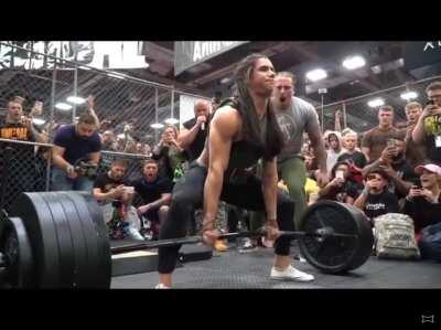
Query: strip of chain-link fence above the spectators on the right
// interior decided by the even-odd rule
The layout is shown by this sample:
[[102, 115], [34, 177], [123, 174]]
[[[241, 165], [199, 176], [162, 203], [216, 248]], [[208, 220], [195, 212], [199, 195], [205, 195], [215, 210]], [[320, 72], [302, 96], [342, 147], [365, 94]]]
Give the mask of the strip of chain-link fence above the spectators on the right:
[[368, 102], [381, 98], [385, 105], [390, 105], [395, 109], [395, 124], [397, 127], [406, 125], [405, 106], [408, 102], [401, 98], [401, 94], [412, 91], [417, 93], [417, 97], [411, 99], [420, 103], [422, 106], [427, 103], [426, 87], [434, 82], [441, 81], [441, 75], [432, 76], [429, 78], [408, 83], [406, 85], [399, 85], [383, 91], [377, 91], [367, 95], [341, 100], [333, 104], [324, 105], [323, 107], [318, 106], [316, 111], [319, 117], [323, 116], [323, 130], [334, 130], [335, 113], [341, 110], [343, 118], [341, 119], [342, 129], [349, 127], [357, 132], [365, 132], [368, 129], [378, 125], [377, 109], [368, 106]]

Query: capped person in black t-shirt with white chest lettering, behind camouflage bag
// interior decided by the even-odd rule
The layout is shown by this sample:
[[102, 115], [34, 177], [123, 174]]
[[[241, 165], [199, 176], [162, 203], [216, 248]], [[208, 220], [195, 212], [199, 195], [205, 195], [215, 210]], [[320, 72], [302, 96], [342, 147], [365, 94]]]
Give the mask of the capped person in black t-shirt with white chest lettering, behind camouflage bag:
[[397, 196], [386, 189], [387, 178], [384, 170], [372, 169], [366, 174], [365, 189], [354, 202], [354, 206], [362, 210], [369, 220], [386, 213], [398, 212]]

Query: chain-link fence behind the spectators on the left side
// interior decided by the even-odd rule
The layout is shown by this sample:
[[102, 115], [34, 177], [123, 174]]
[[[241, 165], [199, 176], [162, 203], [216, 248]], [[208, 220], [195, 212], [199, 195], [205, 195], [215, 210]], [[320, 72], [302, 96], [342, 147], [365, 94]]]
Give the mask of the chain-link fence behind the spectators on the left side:
[[[6, 116], [10, 98], [22, 96], [24, 115], [32, 114], [34, 127], [47, 136], [47, 145], [0, 139], [2, 209], [8, 210], [23, 191], [51, 189], [54, 134], [61, 125], [75, 123], [88, 108], [87, 103], [68, 102], [69, 96], [94, 98], [104, 150], [98, 173], [105, 173], [115, 158], [126, 158], [130, 161], [129, 180], [142, 175], [142, 163], [159, 142], [164, 121], [174, 118], [179, 126], [182, 111], [187, 120], [189, 114], [193, 116], [195, 99], [207, 99], [135, 77], [129, 71], [97, 70], [55, 56], [63, 52], [68, 52], [63, 45], [44, 54], [29, 43], [0, 42], [0, 117]], [[41, 113], [33, 113], [35, 102], [43, 104]]]

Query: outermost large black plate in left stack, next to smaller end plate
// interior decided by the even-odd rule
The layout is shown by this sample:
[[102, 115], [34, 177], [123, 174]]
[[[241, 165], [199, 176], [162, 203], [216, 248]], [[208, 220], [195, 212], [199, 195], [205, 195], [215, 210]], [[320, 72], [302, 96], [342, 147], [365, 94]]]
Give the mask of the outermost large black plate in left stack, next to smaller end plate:
[[21, 217], [31, 243], [39, 288], [60, 287], [60, 254], [56, 230], [42, 193], [21, 193], [11, 206], [10, 216]]

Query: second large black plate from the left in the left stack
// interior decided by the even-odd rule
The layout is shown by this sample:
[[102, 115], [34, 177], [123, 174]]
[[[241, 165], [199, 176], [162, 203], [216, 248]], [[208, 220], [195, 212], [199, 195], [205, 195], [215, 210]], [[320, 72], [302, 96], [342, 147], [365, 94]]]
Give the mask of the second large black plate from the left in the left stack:
[[45, 192], [42, 193], [41, 196], [51, 211], [52, 220], [55, 225], [60, 255], [60, 287], [72, 288], [75, 270], [75, 251], [69, 227], [69, 221], [72, 220], [64, 213], [64, 209], [60, 202], [60, 200], [63, 199], [62, 195], [55, 192]]

